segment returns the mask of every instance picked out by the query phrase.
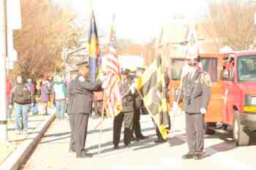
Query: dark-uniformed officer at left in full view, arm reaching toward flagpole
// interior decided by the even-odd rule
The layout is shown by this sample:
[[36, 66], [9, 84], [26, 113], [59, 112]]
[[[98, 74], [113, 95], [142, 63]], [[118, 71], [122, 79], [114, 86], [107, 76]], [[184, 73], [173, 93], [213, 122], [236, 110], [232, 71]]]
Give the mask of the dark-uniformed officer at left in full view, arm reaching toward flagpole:
[[85, 144], [87, 126], [93, 102], [93, 92], [98, 90], [102, 82], [90, 82], [88, 62], [78, 63], [78, 75], [74, 80], [75, 96], [71, 111], [75, 114], [75, 151], [77, 158], [90, 158], [86, 153]]

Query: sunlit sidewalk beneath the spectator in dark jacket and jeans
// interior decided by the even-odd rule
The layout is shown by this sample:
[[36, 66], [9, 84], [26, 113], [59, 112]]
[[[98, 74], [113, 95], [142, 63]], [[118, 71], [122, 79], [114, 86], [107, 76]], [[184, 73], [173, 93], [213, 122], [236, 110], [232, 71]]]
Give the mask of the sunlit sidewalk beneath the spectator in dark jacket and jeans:
[[7, 123], [9, 142], [0, 144], [0, 165], [20, 144], [29, 139], [29, 135], [36, 134], [37, 132], [34, 130], [50, 116], [51, 115], [42, 115], [40, 113], [38, 115], [32, 115], [31, 112], [29, 112], [28, 134], [15, 134], [14, 113], [12, 113], [12, 120]]

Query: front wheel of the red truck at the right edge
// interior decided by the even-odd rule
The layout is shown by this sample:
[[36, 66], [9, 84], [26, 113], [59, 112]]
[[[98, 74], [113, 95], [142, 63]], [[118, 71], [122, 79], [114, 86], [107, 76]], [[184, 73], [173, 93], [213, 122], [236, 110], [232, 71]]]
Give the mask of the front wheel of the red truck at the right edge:
[[236, 146], [248, 146], [249, 135], [244, 132], [244, 125], [241, 125], [239, 112], [234, 111], [233, 139]]

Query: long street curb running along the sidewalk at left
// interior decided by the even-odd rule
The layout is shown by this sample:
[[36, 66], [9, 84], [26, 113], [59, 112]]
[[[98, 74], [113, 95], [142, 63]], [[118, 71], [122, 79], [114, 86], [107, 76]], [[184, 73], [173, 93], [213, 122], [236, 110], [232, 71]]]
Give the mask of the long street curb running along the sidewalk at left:
[[27, 158], [29, 158], [34, 148], [37, 147], [42, 135], [45, 134], [45, 131], [48, 129], [54, 119], [55, 115], [53, 114], [40, 123], [39, 126], [34, 129], [33, 133], [29, 134], [26, 140], [18, 146], [15, 152], [12, 152], [12, 154], [3, 163], [1, 163], [0, 170], [20, 169], [20, 166], [26, 161]]

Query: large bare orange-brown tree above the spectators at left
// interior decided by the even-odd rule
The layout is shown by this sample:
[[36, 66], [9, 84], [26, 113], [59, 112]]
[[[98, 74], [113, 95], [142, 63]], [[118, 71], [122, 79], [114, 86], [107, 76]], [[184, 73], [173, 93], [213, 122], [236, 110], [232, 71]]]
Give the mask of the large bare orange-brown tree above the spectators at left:
[[45, 0], [20, 2], [23, 27], [14, 34], [14, 74], [35, 78], [60, 70], [62, 48], [79, 46], [81, 28], [72, 26], [75, 15]]

